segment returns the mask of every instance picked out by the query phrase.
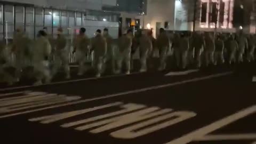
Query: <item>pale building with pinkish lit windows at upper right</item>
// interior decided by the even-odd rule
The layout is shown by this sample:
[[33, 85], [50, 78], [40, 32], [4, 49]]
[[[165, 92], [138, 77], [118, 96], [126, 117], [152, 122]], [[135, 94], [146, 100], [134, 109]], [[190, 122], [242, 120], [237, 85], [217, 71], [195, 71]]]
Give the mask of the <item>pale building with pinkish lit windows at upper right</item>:
[[155, 35], [161, 27], [192, 31], [195, 13], [195, 30], [235, 32], [242, 27], [246, 33], [255, 33], [255, 3], [254, 0], [148, 0], [145, 27], [150, 25]]

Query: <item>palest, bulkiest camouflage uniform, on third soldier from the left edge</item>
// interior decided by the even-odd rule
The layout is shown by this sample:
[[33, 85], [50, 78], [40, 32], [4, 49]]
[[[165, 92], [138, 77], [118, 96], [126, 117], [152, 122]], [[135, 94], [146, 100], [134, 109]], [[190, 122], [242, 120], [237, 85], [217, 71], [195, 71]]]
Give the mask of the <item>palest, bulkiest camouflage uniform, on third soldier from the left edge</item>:
[[37, 82], [35, 85], [42, 84], [42, 80], [45, 79], [46, 83], [51, 81], [49, 58], [51, 56], [52, 47], [47, 37], [39, 37], [36, 40], [34, 47], [34, 70], [36, 73]]

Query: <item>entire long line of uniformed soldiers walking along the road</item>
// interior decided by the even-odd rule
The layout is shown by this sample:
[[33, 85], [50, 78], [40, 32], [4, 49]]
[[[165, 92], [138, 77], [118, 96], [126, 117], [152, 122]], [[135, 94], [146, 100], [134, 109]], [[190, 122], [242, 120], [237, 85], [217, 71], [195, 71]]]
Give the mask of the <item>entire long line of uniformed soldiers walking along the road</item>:
[[[78, 74], [83, 75], [90, 67], [86, 65], [87, 55], [94, 53], [93, 68], [95, 76], [100, 77], [105, 72], [106, 67], [110, 67], [112, 73], [120, 74], [122, 65], [125, 65], [125, 74], [130, 74], [132, 68], [132, 56], [139, 49], [140, 53], [140, 72], [148, 70], [148, 61], [153, 59], [157, 52], [159, 55], [158, 70], [166, 69], [167, 54], [174, 53], [175, 63], [178, 68], [186, 69], [188, 65], [196, 65], [197, 68], [202, 65], [202, 54], [204, 55], [205, 66], [210, 63], [217, 65], [224, 63], [224, 52], [227, 52], [228, 63], [243, 62], [246, 51], [248, 61], [254, 60], [255, 37], [246, 36], [242, 32], [238, 35], [216, 36], [210, 33], [200, 34], [198, 32], [185, 35], [174, 34], [168, 36], [166, 31], [159, 29], [157, 39], [153, 37], [153, 32], [148, 33], [138, 30], [134, 35], [133, 30], [127, 30], [127, 33], [117, 39], [118, 51], [113, 53], [114, 39], [108, 33], [108, 29], [98, 29], [95, 37], [92, 39], [86, 36], [86, 29], [81, 28], [79, 34], [73, 40], [73, 47], [78, 62]], [[41, 85], [43, 82], [50, 83], [60, 68], [63, 68], [66, 78], [70, 78], [69, 69], [69, 45], [67, 38], [63, 35], [62, 28], [58, 29], [57, 38], [53, 39], [47, 35], [46, 30], [38, 31], [37, 39], [31, 41], [24, 31], [17, 29], [13, 38], [11, 52], [15, 54], [15, 74], [12, 76], [4, 70], [8, 67], [7, 59], [10, 53], [3, 42], [0, 43], [0, 76], [3, 81], [12, 85], [18, 82], [23, 68], [26, 66], [26, 60], [33, 60], [34, 75], [36, 77], [35, 85]], [[54, 62], [50, 69], [50, 58], [54, 55]], [[106, 65], [106, 63], [110, 63]]]

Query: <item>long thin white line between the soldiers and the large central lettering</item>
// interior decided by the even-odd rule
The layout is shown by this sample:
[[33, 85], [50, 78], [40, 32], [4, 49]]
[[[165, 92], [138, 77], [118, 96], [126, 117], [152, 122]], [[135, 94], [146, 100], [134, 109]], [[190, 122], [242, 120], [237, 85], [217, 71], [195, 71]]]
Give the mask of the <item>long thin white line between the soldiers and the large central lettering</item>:
[[230, 75], [230, 74], [233, 74], [233, 72], [230, 71], [230, 72], [227, 72], [227, 73], [209, 75], [209, 76], [189, 79], [189, 80], [181, 81], [181, 82], [175, 82], [175, 83], [157, 85], [157, 86], [150, 86], [150, 87], [146, 87], [146, 88], [138, 89], [138, 90], [126, 91], [126, 92], [121, 92], [121, 93], [116, 93], [116, 94], [109, 94], [109, 95], [105, 95], [105, 96], [97, 97], [97, 98], [92, 98], [92, 99], [79, 100], [79, 101], [75, 101], [75, 102], [67, 102], [67, 103], [63, 103], [63, 104], [60, 104], [60, 105], [54, 105], [54, 106], [50, 106], [50, 107], [38, 108], [38, 109], [33, 109], [33, 110], [22, 111], [20, 113], [4, 115], [4, 116], [0, 116], [0, 118], [10, 117], [10, 116], [17, 116], [17, 115], [27, 114], [27, 113], [33, 113], [35, 111], [41, 111], [41, 110], [46, 110], [46, 109], [53, 109], [53, 108], [58, 108], [58, 107], [76, 105], [76, 104], [79, 104], [79, 103], [85, 103], [85, 102], [90, 102], [90, 101], [114, 98], [114, 97], [119, 97], [121, 95], [126, 95], [126, 94], [140, 93], [140, 92], [145, 92], [145, 91], [150, 91], [150, 90], [157, 90], [157, 89], [162, 89], [164, 87], [170, 87], [170, 86], [182, 85], [182, 84], [186, 84], [186, 83], [198, 82], [198, 81], [203, 81], [203, 80], [206, 80], [206, 79], [226, 76], [226, 75]]

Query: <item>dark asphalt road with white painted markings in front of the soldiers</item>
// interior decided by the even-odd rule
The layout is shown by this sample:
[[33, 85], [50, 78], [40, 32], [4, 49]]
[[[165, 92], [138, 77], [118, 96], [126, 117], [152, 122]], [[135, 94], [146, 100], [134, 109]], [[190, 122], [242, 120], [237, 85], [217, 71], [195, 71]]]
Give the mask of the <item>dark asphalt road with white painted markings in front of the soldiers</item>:
[[254, 74], [245, 63], [1, 85], [1, 143], [254, 144]]

